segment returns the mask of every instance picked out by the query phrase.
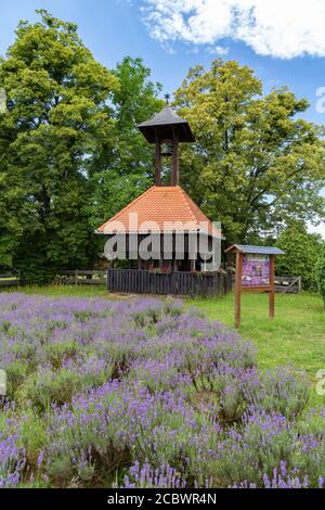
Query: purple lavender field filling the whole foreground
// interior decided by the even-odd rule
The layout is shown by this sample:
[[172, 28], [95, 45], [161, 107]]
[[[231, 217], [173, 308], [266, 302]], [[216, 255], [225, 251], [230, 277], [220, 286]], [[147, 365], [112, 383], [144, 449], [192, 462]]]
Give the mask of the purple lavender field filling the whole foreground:
[[322, 487], [325, 410], [179, 301], [0, 294], [2, 487]]

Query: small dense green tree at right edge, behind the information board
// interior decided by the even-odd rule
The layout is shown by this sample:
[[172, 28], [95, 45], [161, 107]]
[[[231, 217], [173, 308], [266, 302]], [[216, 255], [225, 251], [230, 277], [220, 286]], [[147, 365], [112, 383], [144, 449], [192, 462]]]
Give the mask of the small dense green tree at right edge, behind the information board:
[[276, 246], [285, 252], [276, 258], [276, 275], [301, 277], [302, 288], [316, 291], [315, 264], [322, 238], [309, 233], [299, 222], [292, 222], [277, 239]]

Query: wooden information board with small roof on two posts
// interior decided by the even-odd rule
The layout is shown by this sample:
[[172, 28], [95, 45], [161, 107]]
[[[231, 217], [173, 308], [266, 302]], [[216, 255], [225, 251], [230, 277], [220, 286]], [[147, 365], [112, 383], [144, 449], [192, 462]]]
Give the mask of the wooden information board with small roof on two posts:
[[235, 326], [240, 326], [243, 292], [268, 292], [269, 317], [274, 318], [275, 255], [284, 252], [272, 246], [246, 246], [234, 244], [225, 253], [236, 255]]

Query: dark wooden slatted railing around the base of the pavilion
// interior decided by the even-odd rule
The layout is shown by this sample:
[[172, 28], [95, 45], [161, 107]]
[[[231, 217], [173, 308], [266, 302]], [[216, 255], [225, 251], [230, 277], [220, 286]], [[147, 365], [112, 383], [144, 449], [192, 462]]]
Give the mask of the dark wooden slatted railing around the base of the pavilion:
[[158, 273], [136, 269], [108, 269], [110, 292], [171, 295], [225, 295], [232, 290], [231, 276], [223, 272]]

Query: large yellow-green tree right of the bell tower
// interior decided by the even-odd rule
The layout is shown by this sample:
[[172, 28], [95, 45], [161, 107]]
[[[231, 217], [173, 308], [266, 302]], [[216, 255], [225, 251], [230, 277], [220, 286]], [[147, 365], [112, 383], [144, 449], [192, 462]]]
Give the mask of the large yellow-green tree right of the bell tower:
[[263, 97], [250, 68], [217, 60], [190, 71], [174, 104], [196, 137], [182, 148], [182, 183], [229, 243], [324, 216], [324, 130], [297, 118], [306, 100], [286, 88]]

